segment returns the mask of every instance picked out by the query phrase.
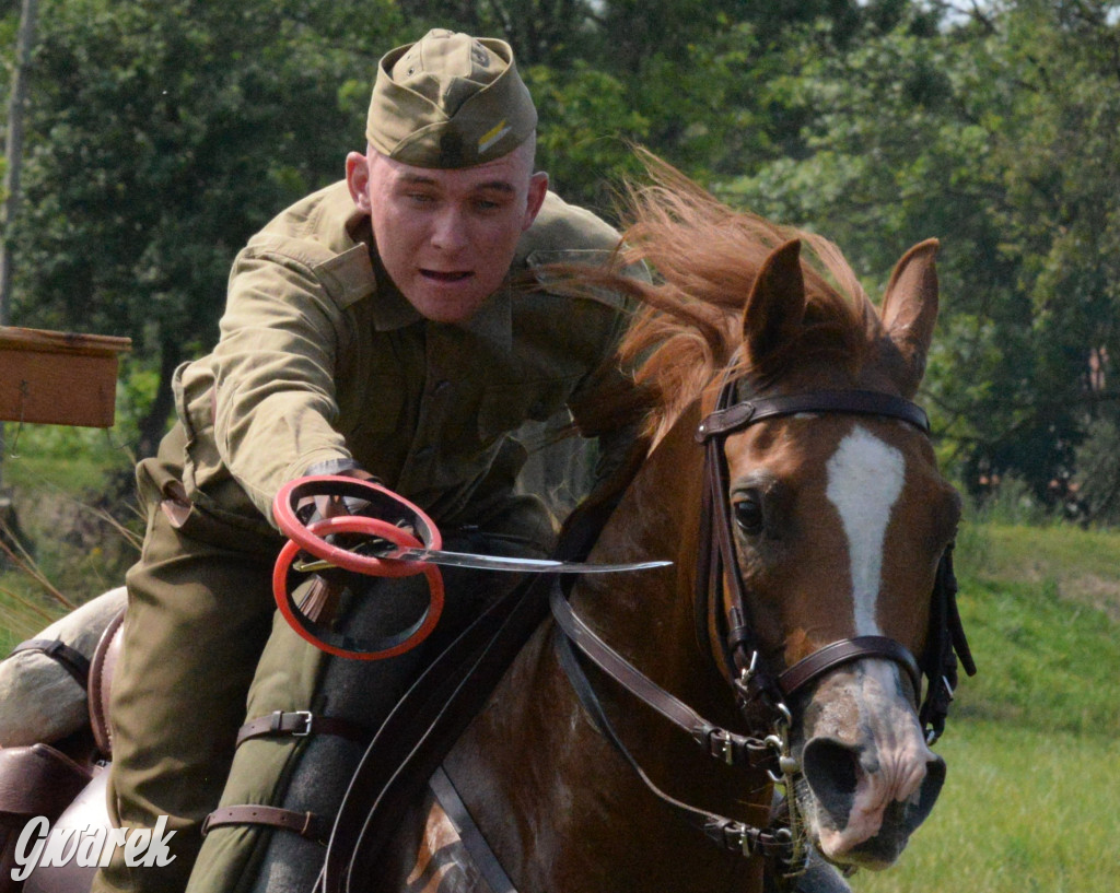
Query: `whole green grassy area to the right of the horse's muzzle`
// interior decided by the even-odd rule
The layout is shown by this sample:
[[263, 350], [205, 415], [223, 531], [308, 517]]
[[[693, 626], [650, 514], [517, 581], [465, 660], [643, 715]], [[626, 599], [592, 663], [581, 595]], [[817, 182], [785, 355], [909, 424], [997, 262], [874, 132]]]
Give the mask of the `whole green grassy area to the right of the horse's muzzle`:
[[1120, 890], [1120, 534], [978, 525], [961, 607], [980, 675], [960, 686], [941, 800], [862, 893]]

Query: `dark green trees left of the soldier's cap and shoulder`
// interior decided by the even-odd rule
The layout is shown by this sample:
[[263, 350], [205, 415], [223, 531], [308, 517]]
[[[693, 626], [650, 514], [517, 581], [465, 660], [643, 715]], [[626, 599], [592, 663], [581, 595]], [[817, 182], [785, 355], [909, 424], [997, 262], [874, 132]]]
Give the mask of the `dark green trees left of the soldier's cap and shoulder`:
[[233, 254], [362, 144], [354, 97], [400, 22], [389, 0], [54, 0], [41, 21], [13, 319], [131, 336], [160, 368], [148, 453]]

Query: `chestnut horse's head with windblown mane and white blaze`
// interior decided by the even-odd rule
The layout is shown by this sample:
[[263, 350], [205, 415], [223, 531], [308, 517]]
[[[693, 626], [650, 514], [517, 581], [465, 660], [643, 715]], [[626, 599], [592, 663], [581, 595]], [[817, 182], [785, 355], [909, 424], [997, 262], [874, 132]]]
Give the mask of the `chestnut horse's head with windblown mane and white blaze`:
[[707, 580], [701, 650], [748, 713], [788, 711], [795, 827], [837, 864], [886, 867], [944, 781], [930, 743], [954, 649], [973, 671], [946, 621], [960, 500], [911, 403], [937, 316], [937, 243], [898, 261], [876, 308], [828, 241], [647, 161], [656, 182], [632, 196], [624, 260], [657, 276], [629, 286], [640, 309], [623, 356], [652, 394], [647, 464], [676, 450], [682, 478], [694, 462], [673, 444], [698, 419], [709, 443], [699, 558], [688, 521], [673, 543]]

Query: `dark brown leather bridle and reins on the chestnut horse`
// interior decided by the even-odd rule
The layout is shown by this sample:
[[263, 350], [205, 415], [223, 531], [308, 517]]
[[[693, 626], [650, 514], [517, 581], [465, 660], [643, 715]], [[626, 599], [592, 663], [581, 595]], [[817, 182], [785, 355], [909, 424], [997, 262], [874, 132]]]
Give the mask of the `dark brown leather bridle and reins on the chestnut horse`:
[[[791, 878], [804, 870], [808, 849], [793, 795], [800, 767], [790, 744], [792, 715], [787, 703], [824, 674], [844, 664], [880, 658], [897, 664], [913, 685], [918, 718], [932, 744], [944, 730], [949, 704], [956, 685], [958, 658], [971, 676], [976, 666], [956, 608], [956, 581], [952, 547], [943, 554], [931, 600], [930, 634], [918, 660], [900, 642], [884, 636], [859, 636], [832, 642], [781, 671], [769, 667], [756, 640], [747, 586], [735, 554], [735, 532], [728, 500], [727, 438], [767, 419], [799, 413], [874, 415], [896, 419], [928, 436], [925, 412], [902, 397], [869, 391], [814, 391], [786, 396], [740, 397], [741, 379], [728, 378], [720, 388], [713, 412], [696, 431], [704, 446], [703, 497], [696, 585], [696, 620], [701, 645], [729, 679], [747, 723], [746, 735], [721, 728], [665, 692], [604, 642], [575, 613], [560, 581], [552, 586], [553, 617], [560, 662], [584, 707], [600, 732], [622, 752], [643, 782], [671, 809], [699, 825], [725, 849], [746, 856], [762, 855], [772, 863], [776, 878]], [[709, 633], [715, 630], [716, 633]], [[765, 769], [775, 782], [784, 782], [784, 811], [766, 828], [756, 828], [703, 809], [682, 803], [661, 791], [648, 779], [613, 728], [599, 698], [571, 646], [632, 695], [688, 732], [711, 756], [730, 764]], [[922, 697], [922, 677], [928, 680]]]

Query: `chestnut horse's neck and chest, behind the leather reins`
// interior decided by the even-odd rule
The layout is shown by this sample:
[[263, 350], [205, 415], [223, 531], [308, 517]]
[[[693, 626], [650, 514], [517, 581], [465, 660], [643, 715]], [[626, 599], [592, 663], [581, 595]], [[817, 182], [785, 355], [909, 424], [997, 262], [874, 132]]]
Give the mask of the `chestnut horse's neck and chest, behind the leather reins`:
[[[673, 566], [581, 577], [576, 610], [627, 660], [712, 722], [738, 723], [730, 688], [697, 645], [692, 588], [702, 449], [685, 412], [648, 457], [604, 528], [592, 561]], [[673, 815], [587, 720], [543, 626], [449, 758], [464, 799], [519, 889], [752, 891], [759, 866], [724, 856]], [[643, 770], [673, 796], [760, 824], [765, 777], [710, 759], [690, 735], [601, 674], [591, 685]], [[737, 730], [741, 731], [741, 730]], [[762, 792], [767, 802], [746, 808]], [[635, 854], [641, 854], [636, 857]]]

